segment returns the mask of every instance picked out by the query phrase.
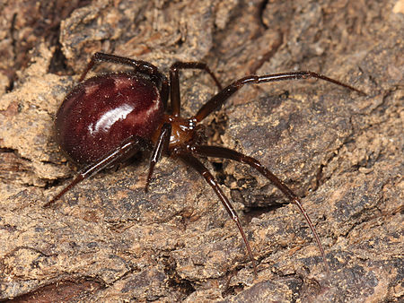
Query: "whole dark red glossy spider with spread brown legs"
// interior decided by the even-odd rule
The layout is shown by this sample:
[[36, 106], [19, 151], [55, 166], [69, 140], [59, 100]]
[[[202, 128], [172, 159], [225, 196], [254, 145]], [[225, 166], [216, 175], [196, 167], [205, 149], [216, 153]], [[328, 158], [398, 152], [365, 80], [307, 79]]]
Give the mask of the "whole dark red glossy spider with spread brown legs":
[[[108, 73], [84, 78], [93, 65], [110, 62], [133, 68], [130, 72]], [[180, 115], [180, 70], [205, 71], [215, 82], [218, 92], [207, 100], [193, 117]], [[79, 79], [79, 84], [66, 96], [57, 110], [55, 120], [57, 143], [67, 158], [83, 166], [76, 177], [44, 206], [55, 203], [73, 186], [91, 177], [101, 169], [118, 167], [137, 152], [152, 150], [150, 166], [145, 182], [147, 191], [154, 166], [162, 154], [178, 159], [196, 169], [212, 186], [225, 210], [235, 222], [250, 256], [255, 276], [257, 266], [242, 224], [232, 203], [224, 195], [215, 177], [199, 160], [215, 157], [235, 160], [257, 169], [302, 212], [321, 251], [327, 272], [329, 266], [320, 238], [297, 195], [264, 167], [259, 160], [221, 146], [206, 145], [204, 127], [200, 124], [208, 115], [221, 108], [226, 100], [245, 84], [277, 82], [317, 78], [332, 82], [361, 94], [356, 88], [313, 72], [289, 72], [282, 74], [249, 75], [222, 88], [214, 73], [201, 62], [176, 62], [170, 67], [170, 80], [154, 65], [124, 56], [95, 53]], [[168, 100], [171, 100], [170, 107]]]

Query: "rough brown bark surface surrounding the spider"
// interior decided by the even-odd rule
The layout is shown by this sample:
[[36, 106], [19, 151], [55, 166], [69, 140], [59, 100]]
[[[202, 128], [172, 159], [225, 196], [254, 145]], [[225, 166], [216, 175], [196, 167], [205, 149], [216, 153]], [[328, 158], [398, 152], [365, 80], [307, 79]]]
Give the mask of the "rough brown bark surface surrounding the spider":
[[[0, 4], [0, 300], [403, 299], [404, 1], [68, 3]], [[250, 85], [205, 123], [209, 143], [257, 158], [302, 197], [329, 277], [295, 206], [227, 160], [209, 168], [242, 218], [257, 278], [211, 188], [176, 160], [161, 160], [148, 194], [147, 160], [137, 160], [44, 209], [75, 175], [53, 118], [95, 51], [164, 73], [205, 61], [224, 84], [311, 70], [365, 91]], [[184, 115], [214, 92], [205, 74], [181, 73]]]

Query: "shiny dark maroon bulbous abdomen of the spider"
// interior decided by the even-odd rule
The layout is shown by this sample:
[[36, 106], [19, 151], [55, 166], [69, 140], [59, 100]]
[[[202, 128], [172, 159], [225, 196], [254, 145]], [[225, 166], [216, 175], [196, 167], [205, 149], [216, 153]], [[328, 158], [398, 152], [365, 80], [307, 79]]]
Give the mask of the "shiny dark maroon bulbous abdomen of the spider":
[[58, 109], [57, 143], [75, 162], [90, 164], [130, 136], [147, 141], [163, 110], [160, 92], [145, 76], [95, 76], [75, 86]]

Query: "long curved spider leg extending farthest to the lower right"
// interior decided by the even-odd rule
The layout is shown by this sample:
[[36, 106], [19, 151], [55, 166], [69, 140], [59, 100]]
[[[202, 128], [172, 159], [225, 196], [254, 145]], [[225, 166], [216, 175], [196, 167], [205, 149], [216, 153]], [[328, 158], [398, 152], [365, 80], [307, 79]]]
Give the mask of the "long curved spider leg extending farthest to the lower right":
[[206, 157], [225, 158], [225, 159], [235, 160], [235, 161], [250, 165], [251, 168], [257, 169], [261, 175], [263, 175], [264, 177], [267, 177], [275, 186], [277, 186], [277, 188], [285, 196], [287, 196], [287, 198], [292, 203], [295, 203], [297, 205], [297, 207], [299, 208], [300, 212], [302, 212], [304, 219], [309, 224], [310, 229], [312, 229], [312, 234], [314, 235], [317, 245], [320, 248], [321, 256], [322, 256], [323, 262], [325, 264], [327, 273], [329, 273], [329, 264], [327, 262], [326, 255], [324, 253], [324, 249], [321, 245], [319, 235], [317, 234], [317, 231], [314, 228], [314, 225], [312, 225], [312, 220], [310, 219], [307, 212], [304, 210], [299, 197], [297, 195], [295, 195], [294, 192], [289, 187], [285, 186], [284, 182], [282, 182], [277, 176], [275, 176], [272, 172], [270, 172], [269, 169], [267, 169], [265, 166], [263, 166], [259, 162], [259, 160], [246, 156], [240, 152], [235, 152], [235, 151], [230, 150], [225, 147], [208, 146], [208, 145], [195, 146], [193, 151], [198, 153], [199, 155], [206, 156]]

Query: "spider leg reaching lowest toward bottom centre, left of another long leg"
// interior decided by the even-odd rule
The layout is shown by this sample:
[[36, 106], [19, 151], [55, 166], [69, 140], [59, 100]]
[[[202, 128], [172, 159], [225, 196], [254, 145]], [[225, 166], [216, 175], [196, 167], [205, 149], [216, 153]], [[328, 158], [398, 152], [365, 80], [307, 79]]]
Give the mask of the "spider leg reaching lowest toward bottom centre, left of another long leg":
[[237, 216], [237, 213], [234, 211], [232, 203], [227, 199], [227, 197], [224, 195], [223, 190], [220, 188], [219, 184], [215, 180], [215, 177], [209, 172], [209, 170], [206, 169], [206, 167], [202, 164], [201, 161], [199, 161], [197, 158], [192, 156], [190, 152], [176, 152], [175, 156], [180, 158], [185, 164], [187, 164], [189, 167], [196, 169], [198, 173], [202, 176], [205, 177], [206, 182], [212, 186], [212, 188], [215, 191], [215, 194], [219, 197], [220, 201], [222, 201], [225, 210], [229, 213], [230, 217], [233, 219], [235, 224], [237, 225], [237, 228], [240, 230], [240, 233], [242, 234], [242, 239], [244, 240], [245, 246], [247, 247], [248, 254], [250, 255], [250, 259], [252, 262], [252, 266], [254, 268], [254, 274], [257, 277], [257, 266], [255, 264], [254, 257], [252, 255], [252, 251], [250, 248], [249, 241], [247, 240], [247, 237], [245, 236], [244, 230], [242, 229], [242, 224], [240, 223], [239, 217]]

